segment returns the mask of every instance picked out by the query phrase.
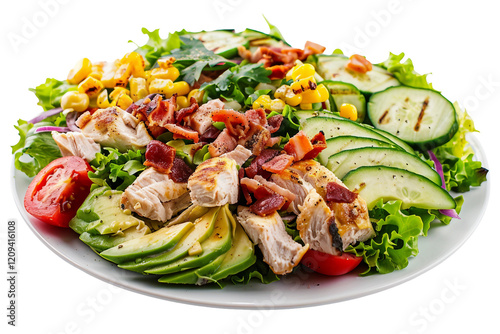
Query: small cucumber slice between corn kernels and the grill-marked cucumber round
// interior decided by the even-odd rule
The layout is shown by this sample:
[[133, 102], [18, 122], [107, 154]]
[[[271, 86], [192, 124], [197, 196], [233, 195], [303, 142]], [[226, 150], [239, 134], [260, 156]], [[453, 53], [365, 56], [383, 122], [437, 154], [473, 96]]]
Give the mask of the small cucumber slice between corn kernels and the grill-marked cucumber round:
[[[323, 84], [330, 91], [330, 95], [334, 101], [332, 106], [332, 111], [340, 110], [340, 106], [344, 103], [350, 103], [354, 105], [358, 111], [358, 119], [356, 122], [362, 123], [366, 116], [366, 99], [363, 94], [352, 84], [341, 82], [325, 80], [318, 84]], [[335, 108], [335, 109], [333, 109]]]

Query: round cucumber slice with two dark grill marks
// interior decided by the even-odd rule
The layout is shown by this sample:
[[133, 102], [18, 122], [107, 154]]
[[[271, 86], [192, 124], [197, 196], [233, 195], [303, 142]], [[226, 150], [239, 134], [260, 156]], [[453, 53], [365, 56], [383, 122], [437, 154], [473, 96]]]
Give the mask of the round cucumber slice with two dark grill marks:
[[400, 86], [373, 94], [368, 117], [377, 129], [422, 150], [448, 142], [458, 130], [453, 104], [430, 89]]

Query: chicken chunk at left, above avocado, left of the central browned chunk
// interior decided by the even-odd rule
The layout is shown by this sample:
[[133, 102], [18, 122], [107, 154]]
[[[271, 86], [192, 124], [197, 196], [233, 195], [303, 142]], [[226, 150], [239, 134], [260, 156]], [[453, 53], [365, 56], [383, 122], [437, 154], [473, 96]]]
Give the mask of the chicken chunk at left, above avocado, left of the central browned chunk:
[[125, 189], [121, 204], [140, 216], [165, 222], [187, 208], [191, 199], [187, 183], [176, 183], [150, 167]]

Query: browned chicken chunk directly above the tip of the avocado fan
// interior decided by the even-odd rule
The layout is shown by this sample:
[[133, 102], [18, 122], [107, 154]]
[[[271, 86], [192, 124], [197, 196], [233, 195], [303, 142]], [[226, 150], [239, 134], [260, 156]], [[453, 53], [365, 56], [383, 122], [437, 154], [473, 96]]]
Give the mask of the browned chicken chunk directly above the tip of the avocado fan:
[[188, 179], [193, 204], [222, 206], [238, 201], [238, 169], [236, 161], [216, 157], [202, 162]]

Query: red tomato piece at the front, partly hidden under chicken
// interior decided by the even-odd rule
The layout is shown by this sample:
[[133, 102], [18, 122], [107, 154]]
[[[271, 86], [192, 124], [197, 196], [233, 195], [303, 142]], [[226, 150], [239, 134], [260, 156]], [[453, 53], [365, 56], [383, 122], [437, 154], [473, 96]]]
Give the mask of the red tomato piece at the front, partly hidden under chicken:
[[350, 253], [331, 255], [309, 249], [302, 257], [301, 263], [306, 267], [324, 275], [344, 275], [356, 268], [363, 260]]

